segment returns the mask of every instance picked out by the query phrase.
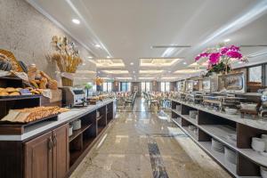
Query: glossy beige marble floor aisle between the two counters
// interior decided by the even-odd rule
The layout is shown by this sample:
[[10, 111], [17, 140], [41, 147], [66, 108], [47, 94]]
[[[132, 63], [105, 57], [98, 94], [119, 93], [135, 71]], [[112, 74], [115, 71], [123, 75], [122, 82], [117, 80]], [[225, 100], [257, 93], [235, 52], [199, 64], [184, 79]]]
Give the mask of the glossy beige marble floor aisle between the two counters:
[[[230, 174], [164, 115], [138, 98], [117, 118], [72, 178], [228, 178]], [[163, 117], [162, 117], [163, 116]]]

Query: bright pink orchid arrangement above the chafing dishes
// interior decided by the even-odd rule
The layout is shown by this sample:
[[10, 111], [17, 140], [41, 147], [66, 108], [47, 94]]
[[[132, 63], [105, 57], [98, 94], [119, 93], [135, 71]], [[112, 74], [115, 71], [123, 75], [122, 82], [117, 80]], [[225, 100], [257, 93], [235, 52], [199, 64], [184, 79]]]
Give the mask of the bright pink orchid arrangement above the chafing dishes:
[[207, 58], [208, 70], [213, 69], [216, 65], [223, 65], [230, 68], [230, 60], [239, 60], [247, 62], [247, 58], [244, 58], [240, 53], [240, 48], [236, 45], [220, 46], [218, 48], [207, 49], [203, 53], [199, 53], [196, 56], [195, 61], [199, 61], [202, 58]]

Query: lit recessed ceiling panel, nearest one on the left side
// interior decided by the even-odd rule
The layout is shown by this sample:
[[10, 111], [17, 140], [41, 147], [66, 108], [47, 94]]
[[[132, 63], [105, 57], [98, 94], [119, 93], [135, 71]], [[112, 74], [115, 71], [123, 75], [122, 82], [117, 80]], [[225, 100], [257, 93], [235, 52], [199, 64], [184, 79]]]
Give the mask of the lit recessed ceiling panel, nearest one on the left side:
[[125, 63], [121, 59], [95, 59], [89, 60], [93, 62], [97, 68], [124, 68]]

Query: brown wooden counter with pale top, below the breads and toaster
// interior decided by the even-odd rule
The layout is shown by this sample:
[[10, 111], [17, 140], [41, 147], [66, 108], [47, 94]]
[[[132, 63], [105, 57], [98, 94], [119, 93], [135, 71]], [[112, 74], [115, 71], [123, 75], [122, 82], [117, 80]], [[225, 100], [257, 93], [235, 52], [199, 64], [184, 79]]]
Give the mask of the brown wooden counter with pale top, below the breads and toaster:
[[[31, 125], [24, 134], [0, 135], [0, 177], [68, 177], [115, 114], [115, 101], [107, 100]], [[81, 128], [69, 136], [69, 123], [77, 119]]]

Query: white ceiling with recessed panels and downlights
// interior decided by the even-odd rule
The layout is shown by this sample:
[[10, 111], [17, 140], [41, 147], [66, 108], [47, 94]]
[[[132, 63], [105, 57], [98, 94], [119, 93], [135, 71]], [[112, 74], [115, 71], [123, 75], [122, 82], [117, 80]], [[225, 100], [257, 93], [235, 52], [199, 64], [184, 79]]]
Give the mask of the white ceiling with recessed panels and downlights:
[[[174, 80], [175, 77], [192, 75], [186, 69], [194, 62], [194, 57], [206, 47], [225, 39], [231, 39], [228, 43], [237, 45], [267, 44], [266, 0], [27, 1], [83, 44], [93, 53], [93, 58], [109, 57], [109, 63], [116, 58], [125, 64], [117, 68], [101, 66], [97, 69], [100, 77], [133, 77], [134, 80], [140, 77], [164, 77], [166, 80], [170, 77]], [[80, 20], [80, 24], [74, 24], [73, 19]], [[151, 48], [153, 45], [174, 44], [191, 47]], [[248, 64], [235, 64], [235, 67], [267, 61], [267, 47], [241, 50], [245, 55], [265, 55], [249, 58]], [[156, 66], [141, 66], [141, 58], [179, 60], [171, 66], [160, 65], [159, 61]], [[180, 69], [184, 70], [176, 72]], [[123, 72], [107, 74], [107, 70]], [[163, 71], [140, 73], [140, 70]]]

